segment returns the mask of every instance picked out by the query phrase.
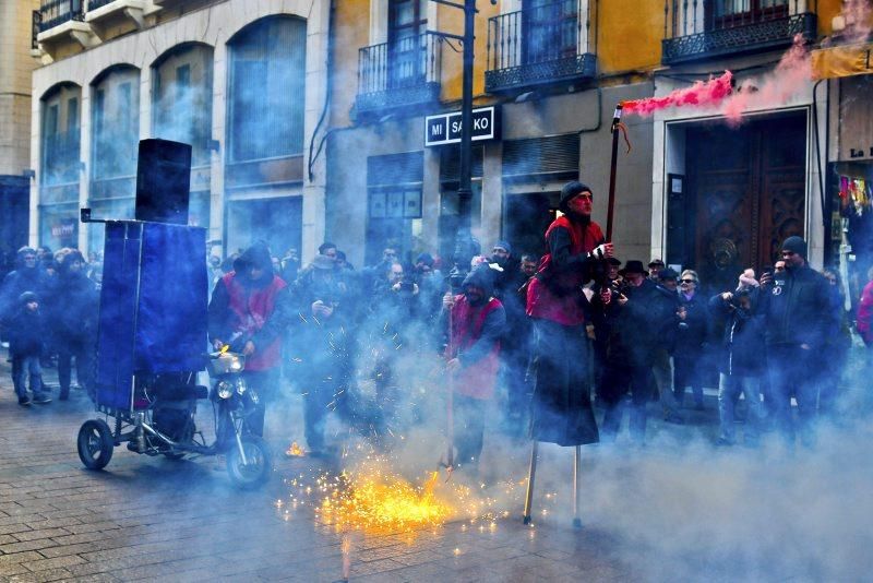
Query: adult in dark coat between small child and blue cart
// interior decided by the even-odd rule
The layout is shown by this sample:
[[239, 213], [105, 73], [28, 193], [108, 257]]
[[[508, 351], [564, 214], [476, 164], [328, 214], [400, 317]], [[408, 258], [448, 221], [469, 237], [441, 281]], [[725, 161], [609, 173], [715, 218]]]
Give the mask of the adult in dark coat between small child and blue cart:
[[52, 340], [58, 350], [58, 381], [60, 395], [70, 397], [72, 381], [72, 360], [79, 385], [91, 392], [94, 390], [94, 353], [97, 332], [97, 310], [99, 295], [94, 282], [88, 279], [85, 259], [72, 249], [60, 260], [58, 290], [50, 307]]

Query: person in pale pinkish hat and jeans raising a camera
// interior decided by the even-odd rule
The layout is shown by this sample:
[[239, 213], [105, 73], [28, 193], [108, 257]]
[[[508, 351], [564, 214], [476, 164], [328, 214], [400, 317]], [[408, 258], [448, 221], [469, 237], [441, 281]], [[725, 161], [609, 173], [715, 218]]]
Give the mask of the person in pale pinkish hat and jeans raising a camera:
[[760, 286], [755, 272], [745, 270], [734, 291], [713, 296], [709, 309], [725, 319], [723, 353], [719, 362], [718, 445], [733, 445], [734, 406], [740, 394], [745, 398], [746, 418], [744, 442], [755, 445], [763, 424], [761, 376], [764, 373], [763, 317], [756, 313]]

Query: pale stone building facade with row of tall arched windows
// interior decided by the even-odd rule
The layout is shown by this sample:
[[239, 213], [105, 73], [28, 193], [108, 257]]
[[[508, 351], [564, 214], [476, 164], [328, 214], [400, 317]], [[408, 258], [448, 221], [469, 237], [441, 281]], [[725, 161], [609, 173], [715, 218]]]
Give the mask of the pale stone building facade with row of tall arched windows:
[[[192, 145], [189, 222], [226, 252], [323, 237], [328, 7], [296, 0], [44, 0], [31, 131], [31, 239], [101, 250], [94, 217], [132, 218], [139, 141]], [[318, 245], [318, 243], [315, 243]]]

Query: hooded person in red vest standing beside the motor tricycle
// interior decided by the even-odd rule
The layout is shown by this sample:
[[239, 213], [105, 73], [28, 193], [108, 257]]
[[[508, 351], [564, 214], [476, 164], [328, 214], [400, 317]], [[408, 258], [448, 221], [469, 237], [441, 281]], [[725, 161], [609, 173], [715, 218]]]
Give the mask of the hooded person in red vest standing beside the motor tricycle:
[[210, 342], [216, 349], [230, 344], [246, 356], [242, 376], [260, 396], [249, 421], [258, 436], [264, 432], [266, 405], [278, 392], [283, 332], [290, 321], [287, 287], [273, 273], [270, 250], [259, 242], [218, 279], [208, 306]]

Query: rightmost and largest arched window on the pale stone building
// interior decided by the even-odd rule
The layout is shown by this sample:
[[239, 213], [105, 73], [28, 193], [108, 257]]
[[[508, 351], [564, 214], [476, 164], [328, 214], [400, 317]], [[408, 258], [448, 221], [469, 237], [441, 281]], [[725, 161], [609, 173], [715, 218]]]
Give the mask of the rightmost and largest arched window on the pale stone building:
[[271, 16], [228, 43], [229, 162], [301, 155], [306, 21]]

